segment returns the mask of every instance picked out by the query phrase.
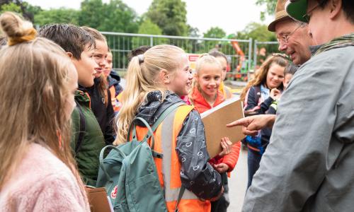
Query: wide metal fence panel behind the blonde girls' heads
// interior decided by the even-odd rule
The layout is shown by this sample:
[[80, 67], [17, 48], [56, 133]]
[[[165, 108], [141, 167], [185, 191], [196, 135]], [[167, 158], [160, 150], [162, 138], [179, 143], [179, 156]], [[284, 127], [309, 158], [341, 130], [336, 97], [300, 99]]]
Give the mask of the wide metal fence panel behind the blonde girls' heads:
[[[207, 53], [213, 49], [215, 45], [221, 45], [219, 51], [223, 52], [229, 58], [231, 72], [228, 74], [243, 73], [249, 76], [252, 59], [252, 39], [234, 40], [234, 39], [218, 39], [205, 37], [180, 37], [168, 35], [144, 35], [132, 33], [110, 33], [102, 32], [107, 38], [108, 46], [113, 52], [113, 68], [118, 71], [125, 71], [128, 64], [128, 56], [132, 49], [148, 45], [169, 44], [176, 45], [185, 50], [188, 54]], [[239, 48], [244, 52], [244, 57], [236, 53], [236, 49], [232, 46], [232, 42], [237, 42]], [[243, 61], [240, 61], [243, 60]], [[241, 70], [237, 67], [241, 65]]]

